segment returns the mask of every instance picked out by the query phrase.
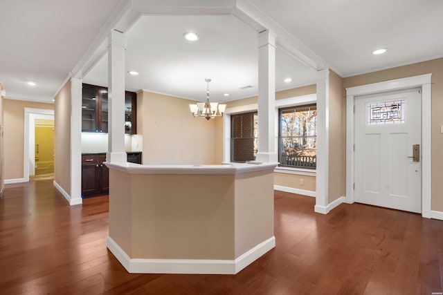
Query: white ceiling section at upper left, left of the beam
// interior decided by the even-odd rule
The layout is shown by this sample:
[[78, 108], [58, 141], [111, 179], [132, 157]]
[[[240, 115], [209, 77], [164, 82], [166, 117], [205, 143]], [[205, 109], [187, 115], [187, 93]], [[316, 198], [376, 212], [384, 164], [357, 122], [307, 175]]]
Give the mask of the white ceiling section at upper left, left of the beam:
[[119, 2], [1, 0], [0, 81], [6, 97], [52, 102]]

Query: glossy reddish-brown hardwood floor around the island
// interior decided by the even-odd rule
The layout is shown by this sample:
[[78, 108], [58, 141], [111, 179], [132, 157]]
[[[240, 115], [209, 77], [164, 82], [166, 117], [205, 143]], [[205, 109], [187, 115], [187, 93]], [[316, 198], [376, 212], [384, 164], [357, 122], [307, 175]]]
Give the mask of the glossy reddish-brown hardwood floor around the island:
[[276, 247], [237, 275], [128, 274], [107, 251], [108, 197], [69, 207], [52, 180], [0, 199], [0, 294], [438, 294], [443, 221], [275, 191]]

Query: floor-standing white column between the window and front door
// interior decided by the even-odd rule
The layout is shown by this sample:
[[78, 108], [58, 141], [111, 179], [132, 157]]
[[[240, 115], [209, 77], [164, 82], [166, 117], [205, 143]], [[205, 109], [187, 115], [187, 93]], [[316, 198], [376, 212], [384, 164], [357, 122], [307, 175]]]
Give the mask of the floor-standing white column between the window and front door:
[[329, 191], [329, 68], [317, 76], [317, 167], [314, 211], [328, 213]]

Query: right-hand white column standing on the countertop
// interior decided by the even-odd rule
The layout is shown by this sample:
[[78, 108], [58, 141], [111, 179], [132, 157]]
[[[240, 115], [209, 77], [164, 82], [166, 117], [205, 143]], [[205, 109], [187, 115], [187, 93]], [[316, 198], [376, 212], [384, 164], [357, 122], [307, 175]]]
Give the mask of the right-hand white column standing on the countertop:
[[275, 151], [275, 36], [269, 30], [258, 35], [257, 161], [278, 161]]

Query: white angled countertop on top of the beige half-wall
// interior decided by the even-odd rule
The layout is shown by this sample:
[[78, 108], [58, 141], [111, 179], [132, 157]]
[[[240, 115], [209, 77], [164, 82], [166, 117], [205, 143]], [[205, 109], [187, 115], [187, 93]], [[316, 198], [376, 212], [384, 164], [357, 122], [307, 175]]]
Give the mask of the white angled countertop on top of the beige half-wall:
[[273, 171], [278, 162], [248, 164], [224, 163], [219, 165], [143, 165], [126, 163], [124, 165], [105, 162], [109, 169], [129, 174], [242, 174], [255, 171]]

